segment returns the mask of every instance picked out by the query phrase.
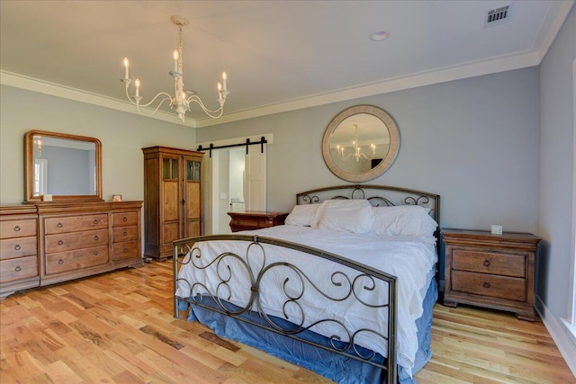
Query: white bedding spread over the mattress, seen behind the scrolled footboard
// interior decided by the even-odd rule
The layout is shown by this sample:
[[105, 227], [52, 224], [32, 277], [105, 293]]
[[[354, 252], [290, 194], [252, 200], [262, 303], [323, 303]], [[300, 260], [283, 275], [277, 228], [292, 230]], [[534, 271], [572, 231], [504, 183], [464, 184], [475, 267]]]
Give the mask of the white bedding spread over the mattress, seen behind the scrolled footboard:
[[[397, 362], [407, 372], [411, 372], [418, 350], [416, 319], [422, 315], [422, 300], [428, 289], [430, 274], [434, 271], [433, 267], [437, 263], [437, 251], [433, 240], [410, 237], [383, 237], [370, 234], [358, 235], [291, 225], [238, 232], [238, 234], [257, 234], [262, 237], [275, 237], [305, 246], [313, 246], [397, 276], [399, 303]], [[283, 248], [280, 250], [275, 247], [273, 252], [271, 250], [272, 246], [264, 246], [266, 249], [266, 265], [279, 261], [299, 265], [302, 272], [306, 273], [320, 290], [329, 292], [332, 296], [341, 296], [338, 293], [347, 290], [344, 287], [339, 289], [338, 286], [335, 286], [330, 281], [330, 276], [333, 272], [350, 272], [351, 270], [347, 267], [290, 249]], [[247, 243], [240, 244], [240, 242], [205, 242], [201, 246], [202, 260], [207, 255], [215, 256], [223, 252], [234, 252], [245, 257], [247, 253], [246, 247]], [[261, 263], [263, 263], [263, 259], [259, 255], [261, 254], [257, 247], [250, 249], [249, 263], [256, 271], [254, 273], [259, 271]], [[210, 257], [209, 260], [212, 260], [212, 258]], [[202, 263], [205, 264], [206, 262]], [[216, 264], [212, 264], [206, 270], [193, 269], [189, 265], [184, 264], [180, 269], [178, 273], [180, 279], [202, 281], [212, 293], [217, 291], [217, 285], [220, 280], [217, 279]], [[229, 301], [240, 307], [246, 307], [250, 296], [250, 287], [249, 284], [246, 284], [246, 280], [244, 280], [244, 284], [241, 287], [238, 286], [237, 277], [241, 276], [242, 279], [248, 279], [249, 281], [248, 272], [238, 262], [231, 261], [229, 265], [231, 265], [233, 271], [233, 277], [229, 281], [231, 294]], [[226, 269], [222, 267], [223, 265], [220, 265], [220, 276], [222, 273], [228, 276]], [[268, 286], [267, 284], [270, 283], [269, 279], [276, 281], [275, 286], [282, 287], [286, 278], [286, 270], [286, 268], [274, 268], [266, 272], [266, 281], [260, 284], [261, 289]], [[356, 274], [354, 273], [352, 276], [356, 276]], [[300, 292], [298, 288], [300, 287], [299, 280], [294, 273], [290, 274], [290, 276], [291, 279], [287, 285], [287, 290], [293, 292], [293, 294], [298, 294]], [[338, 278], [338, 275], [336, 276]], [[352, 331], [360, 328], [369, 328], [379, 330], [383, 335], [387, 334], [387, 318], [382, 309], [366, 308], [353, 299], [332, 303], [329, 308], [320, 307], [316, 301], [320, 299], [316, 290], [312, 289], [307, 281], [305, 284], [307, 284], [304, 290], [306, 292], [304, 299], [306, 300], [304, 302], [299, 300], [302, 305], [302, 311], [305, 314], [306, 321], [304, 326], [308, 326], [318, 319], [329, 317], [338, 319]], [[363, 290], [360, 297], [370, 303], [382, 304], [387, 302], [385, 288], [381, 286], [373, 292]], [[189, 290], [187, 284], [179, 282], [176, 295], [189, 297], [191, 296]], [[220, 294], [225, 299], [228, 299], [229, 291], [220, 286]], [[193, 294], [199, 292], [203, 293], [202, 290], [195, 290]], [[283, 304], [286, 301], [284, 291], [281, 289], [275, 292], [262, 290], [260, 294], [267, 314], [284, 317]], [[289, 320], [294, 323], [299, 322], [301, 316], [296, 306], [289, 305], [286, 308], [286, 312], [290, 317]], [[328, 337], [335, 334], [342, 335], [343, 340], [348, 341], [347, 336], [342, 334], [341, 328], [332, 323], [321, 323], [311, 328], [311, 330]], [[386, 355], [386, 344], [380, 337], [374, 337], [374, 335], [368, 333], [359, 334], [355, 339], [355, 343], [384, 356]]]

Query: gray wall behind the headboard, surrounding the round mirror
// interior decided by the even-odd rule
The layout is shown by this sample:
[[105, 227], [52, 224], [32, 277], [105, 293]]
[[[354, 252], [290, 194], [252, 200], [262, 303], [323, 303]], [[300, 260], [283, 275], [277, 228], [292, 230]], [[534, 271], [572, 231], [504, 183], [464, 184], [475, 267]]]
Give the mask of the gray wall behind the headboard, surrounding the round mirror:
[[271, 132], [268, 210], [290, 210], [296, 192], [345, 183], [321, 155], [338, 112], [368, 103], [398, 124], [392, 167], [370, 183], [442, 195], [442, 226], [537, 232], [538, 68], [479, 76], [196, 130], [199, 142]]

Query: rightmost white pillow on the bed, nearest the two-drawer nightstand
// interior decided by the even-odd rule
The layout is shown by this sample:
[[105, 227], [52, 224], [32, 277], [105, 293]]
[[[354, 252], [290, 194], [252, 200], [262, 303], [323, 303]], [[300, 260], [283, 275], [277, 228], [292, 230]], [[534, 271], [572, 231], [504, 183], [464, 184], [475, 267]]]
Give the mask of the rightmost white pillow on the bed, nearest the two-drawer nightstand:
[[438, 224], [419, 205], [374, 207], [372, 233], [384, 236], [434, 237]]

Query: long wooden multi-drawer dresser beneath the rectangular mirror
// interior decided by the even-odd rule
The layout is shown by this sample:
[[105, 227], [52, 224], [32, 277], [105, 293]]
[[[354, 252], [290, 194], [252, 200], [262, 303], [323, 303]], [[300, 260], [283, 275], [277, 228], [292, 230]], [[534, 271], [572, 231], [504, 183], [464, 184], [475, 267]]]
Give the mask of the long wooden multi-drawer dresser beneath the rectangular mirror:
[[0, 298], [142, 265], [142, 201], [0, 207]]

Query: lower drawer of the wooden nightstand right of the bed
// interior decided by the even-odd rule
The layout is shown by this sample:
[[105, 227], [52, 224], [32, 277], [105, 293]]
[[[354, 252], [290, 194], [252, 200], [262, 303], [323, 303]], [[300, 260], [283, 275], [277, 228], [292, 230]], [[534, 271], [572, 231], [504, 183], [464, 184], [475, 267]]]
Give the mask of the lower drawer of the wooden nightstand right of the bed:
[[526, 280], [486, 273], [453, 271], [451, 290], [516, 301], [527, 299]]

